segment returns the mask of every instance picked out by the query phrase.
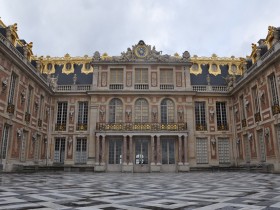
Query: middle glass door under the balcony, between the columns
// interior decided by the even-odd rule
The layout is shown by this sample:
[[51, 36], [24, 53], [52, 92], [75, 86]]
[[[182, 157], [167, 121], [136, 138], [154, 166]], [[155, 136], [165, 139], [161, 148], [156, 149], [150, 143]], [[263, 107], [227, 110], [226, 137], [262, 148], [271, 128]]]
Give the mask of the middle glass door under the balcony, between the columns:
[[135, 137], [134, 172], [149, 172], [148, 137]]

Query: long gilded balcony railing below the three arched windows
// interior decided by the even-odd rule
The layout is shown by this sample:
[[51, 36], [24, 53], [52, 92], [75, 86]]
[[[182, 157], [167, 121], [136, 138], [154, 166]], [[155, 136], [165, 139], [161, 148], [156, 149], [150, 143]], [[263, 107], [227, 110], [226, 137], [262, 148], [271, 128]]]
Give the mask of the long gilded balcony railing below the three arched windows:
[[186, 131], [187, 123], [97, 123], [98, 131]]

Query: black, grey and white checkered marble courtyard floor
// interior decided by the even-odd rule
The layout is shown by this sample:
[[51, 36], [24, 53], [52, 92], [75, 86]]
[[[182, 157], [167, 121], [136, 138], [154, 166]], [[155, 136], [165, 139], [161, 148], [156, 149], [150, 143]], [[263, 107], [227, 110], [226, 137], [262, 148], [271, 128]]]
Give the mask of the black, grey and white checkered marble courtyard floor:
[[280, 175], [245, 172], [0, 174], [1, 209], [280, 210]]

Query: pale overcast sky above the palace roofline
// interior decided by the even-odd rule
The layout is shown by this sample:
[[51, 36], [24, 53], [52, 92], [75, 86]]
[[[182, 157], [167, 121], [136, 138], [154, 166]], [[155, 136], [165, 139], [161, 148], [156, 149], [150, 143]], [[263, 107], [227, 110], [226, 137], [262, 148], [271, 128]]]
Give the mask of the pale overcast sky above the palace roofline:
[[6, 25], [36, 55], [119, 55], [144, 40], [163, 54], [250, 54], [280, 26], [279, 0], [0, 0]]

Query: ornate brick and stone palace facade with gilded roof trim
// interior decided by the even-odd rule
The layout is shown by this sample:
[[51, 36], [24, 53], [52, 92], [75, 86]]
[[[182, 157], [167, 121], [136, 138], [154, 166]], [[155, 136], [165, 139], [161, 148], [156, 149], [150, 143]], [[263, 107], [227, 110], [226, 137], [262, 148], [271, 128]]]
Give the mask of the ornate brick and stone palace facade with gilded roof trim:
[[280, 172], [280, 29], [246, 58], [165, 55], [140, 40], [117, 56], [34, 56], [0, 20], [0, 166]]

